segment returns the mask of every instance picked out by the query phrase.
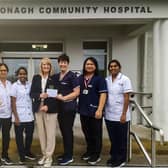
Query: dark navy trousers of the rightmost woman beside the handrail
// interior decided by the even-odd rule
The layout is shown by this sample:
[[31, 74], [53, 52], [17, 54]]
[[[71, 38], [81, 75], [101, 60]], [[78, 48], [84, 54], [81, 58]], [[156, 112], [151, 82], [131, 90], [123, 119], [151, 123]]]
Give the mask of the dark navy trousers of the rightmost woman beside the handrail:
[[127, 159], [127, 141], [129, 122], [105, 120], [109, 134], [111, 149], [110, 155], [115, 162], [124, 162]]

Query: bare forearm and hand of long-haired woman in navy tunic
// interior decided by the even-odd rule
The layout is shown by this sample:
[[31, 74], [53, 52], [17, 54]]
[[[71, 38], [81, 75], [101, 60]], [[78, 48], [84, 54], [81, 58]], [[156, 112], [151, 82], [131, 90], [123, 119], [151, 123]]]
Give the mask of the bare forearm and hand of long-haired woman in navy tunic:
[[99, 105], [98, 105], [97, 111], [95, 113], [95, 118], [96, 119], [102, 118], [103, 108], [104, 108], [104, 105], [106, 103], [106, 97], [107, 97], [107, 93], [101, 93], [100, 94]]

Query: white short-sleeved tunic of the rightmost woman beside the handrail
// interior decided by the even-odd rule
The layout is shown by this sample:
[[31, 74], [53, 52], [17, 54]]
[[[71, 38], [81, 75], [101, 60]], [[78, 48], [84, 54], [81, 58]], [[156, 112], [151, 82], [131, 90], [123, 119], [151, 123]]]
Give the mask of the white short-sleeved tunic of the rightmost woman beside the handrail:
[[[106, 78], [108, 98], [105, 106], [105, 119], [120, 121], [124, 106], [124, 93], [132, 92], [130, 79], [119, 73], [114, 81], [112, 76]], [[126, 113], [126, 121], [130, 120], [129, 107]]]

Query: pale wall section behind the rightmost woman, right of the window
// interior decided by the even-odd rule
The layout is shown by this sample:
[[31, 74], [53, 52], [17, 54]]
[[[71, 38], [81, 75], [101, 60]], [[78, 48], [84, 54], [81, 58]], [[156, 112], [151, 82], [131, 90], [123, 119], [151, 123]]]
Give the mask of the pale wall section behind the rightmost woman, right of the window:
[[138, 89], [137, 43], [137, 38], [113, 39], [112, 42], [112, 58], [120, 61], [122, 72], [131, 79], [134, 91]]

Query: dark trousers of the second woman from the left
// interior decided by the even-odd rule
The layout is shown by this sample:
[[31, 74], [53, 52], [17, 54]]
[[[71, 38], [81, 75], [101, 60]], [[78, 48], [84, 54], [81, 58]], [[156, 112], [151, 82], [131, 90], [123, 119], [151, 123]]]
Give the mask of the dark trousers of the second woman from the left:
[[[25, 155], [30, 153], [33, 132], [34, 121], [21, 122], [18, 126], [15, 125], [16, 144], [21, 159], [24, 159]], [[25, 139], [23, 134], [25, 134]]]

